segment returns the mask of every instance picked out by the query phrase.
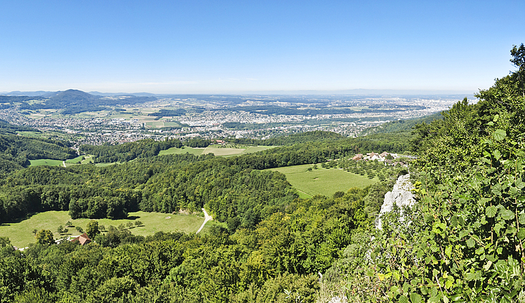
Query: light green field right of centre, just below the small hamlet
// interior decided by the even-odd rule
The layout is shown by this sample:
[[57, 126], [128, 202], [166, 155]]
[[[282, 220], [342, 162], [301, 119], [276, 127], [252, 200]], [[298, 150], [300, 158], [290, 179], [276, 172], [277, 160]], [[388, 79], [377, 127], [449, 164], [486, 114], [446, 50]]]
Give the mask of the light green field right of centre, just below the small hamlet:
[[348, 173], [339, 168], [312, 168], [312, 164], [270, 168], [286, 175], [286, 179], [299, 193], [302, 198], [314, 195], [325, 195], [331, 197], [336, 191], [346, 192], [352, 187], [365, 187], [379, 181], [377, 177], [367, 177]]

